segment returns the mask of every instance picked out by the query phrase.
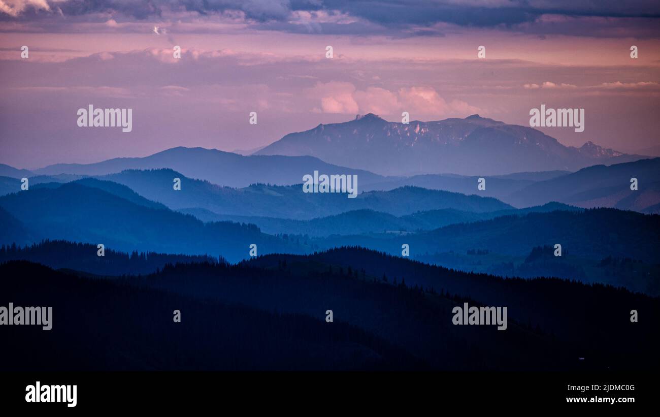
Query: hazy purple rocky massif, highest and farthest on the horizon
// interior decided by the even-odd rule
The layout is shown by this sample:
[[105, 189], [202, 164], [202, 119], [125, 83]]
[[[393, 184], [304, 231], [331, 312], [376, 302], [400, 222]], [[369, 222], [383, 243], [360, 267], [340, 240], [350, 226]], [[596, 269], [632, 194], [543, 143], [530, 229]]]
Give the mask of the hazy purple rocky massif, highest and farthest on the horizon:
[[345, 123], [290, 133], [257, 155], [310, 155], [381, 175], [453, 173], [492, 176], [523, 171], [574, 171], [593, 164], [637, 160], [591, 142], [564, 146], [531, 127], [471, 115], [409, 124], [358, 116]]

